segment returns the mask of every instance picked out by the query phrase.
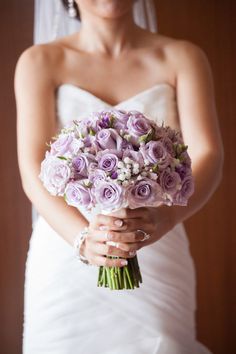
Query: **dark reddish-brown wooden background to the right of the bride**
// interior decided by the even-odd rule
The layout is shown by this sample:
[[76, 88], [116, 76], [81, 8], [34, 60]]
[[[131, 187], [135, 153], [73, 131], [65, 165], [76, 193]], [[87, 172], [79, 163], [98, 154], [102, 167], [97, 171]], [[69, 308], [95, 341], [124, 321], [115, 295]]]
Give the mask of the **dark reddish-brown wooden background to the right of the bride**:
[[[190, 40], [206, 52], [214, 75], [225, 149], [222, 183], [209, 203], [186, 223], [197, 271], [198, 338], [214, 354], [233, 353], [235, 331], [236, 223], [236, 2], [156, 0], [162, 34]], [[234, 253], [235, 255], [235, 253]], [[234, 321], [234, 323], [233, 323]]]

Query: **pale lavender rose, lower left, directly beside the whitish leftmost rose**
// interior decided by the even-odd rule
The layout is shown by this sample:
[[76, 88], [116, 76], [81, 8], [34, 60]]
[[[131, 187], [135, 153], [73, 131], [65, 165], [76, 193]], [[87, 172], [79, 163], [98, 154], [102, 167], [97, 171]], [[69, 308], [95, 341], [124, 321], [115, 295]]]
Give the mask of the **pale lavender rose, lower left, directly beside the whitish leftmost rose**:
[[91, 190], [83, 184], [83, 181], [69, 182], [65, 189], [65, 199], [67, 204], [76, 208], [79, 206], [92, 207]]

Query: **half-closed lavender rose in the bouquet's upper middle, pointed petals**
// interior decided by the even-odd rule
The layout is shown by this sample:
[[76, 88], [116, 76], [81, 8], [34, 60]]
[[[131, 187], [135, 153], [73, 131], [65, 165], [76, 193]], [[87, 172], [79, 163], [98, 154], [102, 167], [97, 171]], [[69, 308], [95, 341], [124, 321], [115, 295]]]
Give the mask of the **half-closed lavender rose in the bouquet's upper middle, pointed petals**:
[[121, 150], [122, 137], [117, 133], [115, 129], [101, 129], [96, 134], [96, 141], [100, 148], [109, 150]]

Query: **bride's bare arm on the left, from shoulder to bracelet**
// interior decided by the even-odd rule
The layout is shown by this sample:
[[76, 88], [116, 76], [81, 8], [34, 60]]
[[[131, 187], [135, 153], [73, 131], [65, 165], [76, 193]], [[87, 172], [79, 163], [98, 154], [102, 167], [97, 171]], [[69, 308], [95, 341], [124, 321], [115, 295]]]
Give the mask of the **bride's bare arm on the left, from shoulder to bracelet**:
[[[56, 49], [55, 49], [56, 50]], [[53, 66], [61, 53], [52, 57], [47, 47], [32, 47], [18, 60], [15, 73], [17, 105], [18, 161], [22, 185], [39, 214], [67, 242], [87, 225], [87, 220], [61, 198], [52, 197], [39, 180], [40, 164], [46, 142], [56, 133], [55, 87]]]

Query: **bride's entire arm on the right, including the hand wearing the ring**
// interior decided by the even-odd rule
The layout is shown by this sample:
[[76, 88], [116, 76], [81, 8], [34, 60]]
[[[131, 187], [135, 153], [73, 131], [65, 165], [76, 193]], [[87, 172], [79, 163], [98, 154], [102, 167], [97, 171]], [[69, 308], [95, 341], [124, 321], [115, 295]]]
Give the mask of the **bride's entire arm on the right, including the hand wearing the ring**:
[[177, 223], [196, 213], [212, 196], [222, 178], [223, 146], [208, 60], [199, 48], [187, 42], [177, 42], [168, 54], [176, 72], [180, 127], [192, 159], [195, 193], [186, 207], [122, 209], [113, 213], [113, 216], [128, 218], [121, 228], [125, 232], [142, 229], [151, 235], [147, 241], [127, 244], [125, 234], [112, 233], [112, 240], [119, 242], [119, 247], [126, 251], [158, 241]]

